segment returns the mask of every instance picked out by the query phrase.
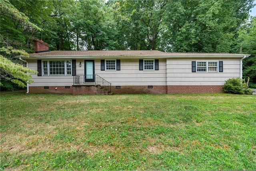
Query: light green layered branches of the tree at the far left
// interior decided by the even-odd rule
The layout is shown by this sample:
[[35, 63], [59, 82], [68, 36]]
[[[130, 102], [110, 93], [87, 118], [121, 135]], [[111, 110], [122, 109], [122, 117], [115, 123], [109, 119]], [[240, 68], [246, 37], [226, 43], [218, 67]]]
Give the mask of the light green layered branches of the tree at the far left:
[[[22, 23], [22, 26], [25, 29], [38, 29], [38, 26], [34, 25], [29, 21], [29, 18], [25, 16], [22, 12], [19, 12], [8, 0], [2, 0], [0, 2], [0, 11], [1, 16], [4, 15], [6, 18], [9, 18], [15, 22]], [[1, 18], [2, 19], [2, 18]], [[11, 81], [12, 83], [17, 84], [18, 86], [25, 87], [25, 83], [32, 82], [31, 75], [28, 73], [37, 73], [37, 71], [28, 69], [23, 65], [13, 63], [10, 59], [13, 59], [15, 55], [22, 55], [28, 57], [28, 53], [24, 50], [14, 49], [8, 44], [8, 37], [2, 36], [0, 34], [0, 79]], [[7, 59], [10, 58], [10, 59]], [[2, 83], [0, 83], [2, 85]]]

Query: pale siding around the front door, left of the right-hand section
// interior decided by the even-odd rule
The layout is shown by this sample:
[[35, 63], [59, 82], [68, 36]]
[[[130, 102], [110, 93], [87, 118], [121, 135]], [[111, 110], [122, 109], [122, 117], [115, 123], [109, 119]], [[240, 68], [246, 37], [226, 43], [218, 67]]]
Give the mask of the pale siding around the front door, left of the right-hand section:
[[[28, 62], [30, 69], [37, 70], [36, 60], [28, 60]], [[81, 67], [79, 67], [80, 62]], [[166, 85], [166, 59], [159, 59], [158, 71], [139, 71], [139, 59], [121, 59], [120, 62], [120, 71], [101, 71], [100, 59], [96, 59], [95, 74], [112, 83], [113, 86]], [[84, 75], [84, 59], [76, 60], [76, 75]], [[73, 85], [73, 76], [37, 76], [32, 74], [32, 80], [34, 83], [31, 83], [30, 86]]]

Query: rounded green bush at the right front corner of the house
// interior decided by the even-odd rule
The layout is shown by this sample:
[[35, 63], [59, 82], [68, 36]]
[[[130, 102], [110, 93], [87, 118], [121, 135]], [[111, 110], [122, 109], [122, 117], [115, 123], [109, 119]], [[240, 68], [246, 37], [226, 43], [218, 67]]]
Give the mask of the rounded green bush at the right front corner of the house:
[[225, 81], [224, 92], [226, 93], [233, 93], [233, 94], [248, 94], [250, 90], [246, 87], [246, 83], [244, 83], [244, 80], [240, 78], [232, 78]]

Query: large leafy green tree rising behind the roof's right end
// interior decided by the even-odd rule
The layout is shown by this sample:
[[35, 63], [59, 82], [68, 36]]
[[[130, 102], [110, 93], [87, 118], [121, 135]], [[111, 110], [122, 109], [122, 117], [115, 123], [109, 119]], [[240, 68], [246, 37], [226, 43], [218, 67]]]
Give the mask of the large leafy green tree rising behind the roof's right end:
[[175, 52], [232, 52], [237, 30], [253, 0], [168, 1], [163, 49]]

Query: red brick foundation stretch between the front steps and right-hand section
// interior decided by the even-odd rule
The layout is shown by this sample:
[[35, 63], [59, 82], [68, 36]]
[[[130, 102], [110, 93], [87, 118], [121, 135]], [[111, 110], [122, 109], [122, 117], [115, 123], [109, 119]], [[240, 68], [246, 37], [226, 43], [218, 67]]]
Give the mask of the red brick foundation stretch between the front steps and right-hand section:
[[120, 86], [120, 88], [116, 88], [116, 86], [111, 86], [111, 92], [114, 94], [166, 94], [167, 87], [166, 86], [153, 86], [152, 88], [148, 88], [148, 86]]

